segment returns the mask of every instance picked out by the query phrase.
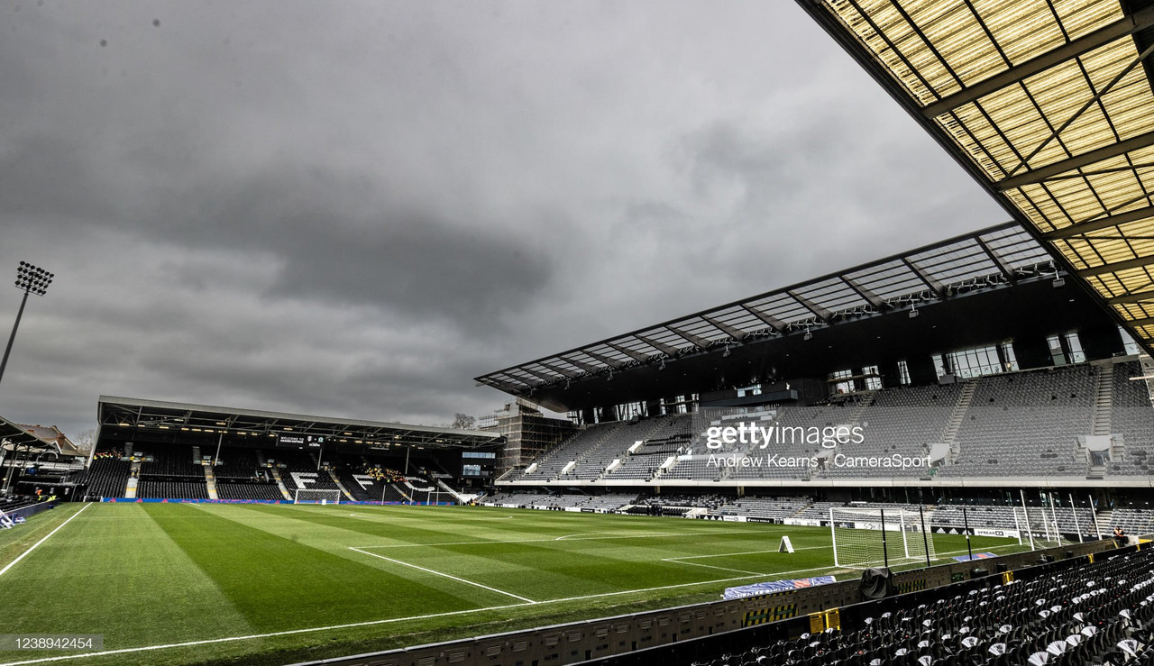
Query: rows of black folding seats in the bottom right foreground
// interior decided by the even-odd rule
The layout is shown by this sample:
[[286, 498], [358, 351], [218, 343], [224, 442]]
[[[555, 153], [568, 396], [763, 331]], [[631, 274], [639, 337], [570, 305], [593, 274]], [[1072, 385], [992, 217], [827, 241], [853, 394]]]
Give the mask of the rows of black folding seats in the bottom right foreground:
[[1151, 664], [1152, 569], [1142, 551], [966, 593], [944, 588], [917, 607], [878, 603], [860, 629], [804, 634], [694, 666]]

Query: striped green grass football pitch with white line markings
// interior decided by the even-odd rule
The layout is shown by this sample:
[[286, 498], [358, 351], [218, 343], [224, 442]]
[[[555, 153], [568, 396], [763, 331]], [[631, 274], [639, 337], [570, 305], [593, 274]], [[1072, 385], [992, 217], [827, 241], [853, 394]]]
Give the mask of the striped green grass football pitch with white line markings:
[[[779, 553], [788, 534], [795, 553]], [[934, 537], [939, 558], [964, 537]], [[973, 539], [1007, 553], [1016, 540]], [[63, 504], [0, 532], [3, 664], [284, 664], [710, 601], [829, 573], [829, 529], [485, 507]], [[857, 571], [840, 570], [847, 577]]]

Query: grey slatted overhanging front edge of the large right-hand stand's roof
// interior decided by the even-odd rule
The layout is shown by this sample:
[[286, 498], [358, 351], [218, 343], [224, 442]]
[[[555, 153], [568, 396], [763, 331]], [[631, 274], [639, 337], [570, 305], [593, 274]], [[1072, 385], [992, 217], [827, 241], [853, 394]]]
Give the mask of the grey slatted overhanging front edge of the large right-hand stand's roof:
[[477, 377], [482, 384], [526, 396], [664, 359], [712, 353], [719, 343], [804, 334], [879, 316], [927, 300], [1052, 275], [1054, 257], [1020, 225], [1007, 223], [869, 264], [762, 293], [623, 336], [572, 349]]

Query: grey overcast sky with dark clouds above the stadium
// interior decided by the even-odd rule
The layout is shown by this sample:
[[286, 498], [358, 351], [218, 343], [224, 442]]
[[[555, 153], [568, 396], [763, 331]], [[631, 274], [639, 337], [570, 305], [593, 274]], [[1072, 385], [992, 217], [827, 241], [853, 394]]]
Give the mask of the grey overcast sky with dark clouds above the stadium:
[[[443, 424], [1007, 216], [794, 2], [0, 0], [0, 414]], [[21, 292], [0, 289], [0, 332]]]

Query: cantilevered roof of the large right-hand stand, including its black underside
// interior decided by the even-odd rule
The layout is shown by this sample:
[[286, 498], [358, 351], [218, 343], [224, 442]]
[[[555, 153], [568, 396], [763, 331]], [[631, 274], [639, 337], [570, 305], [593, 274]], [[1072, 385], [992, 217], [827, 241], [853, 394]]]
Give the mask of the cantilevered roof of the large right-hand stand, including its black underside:
[[[713, 386], [719, 381], [740, 386], [754, 375], [817, 376], [823, 368], [838, 369], [837, 364], [878, 362], [896, 350], [928, 358], [966, 344], [1074, 330], [1079, 322], [1110, 325], [1085, 290], [1054, 289], [1058, 275], [1047, 249], [1020, 225], [1006, 223], [477, 381], [567, 411], [647, 399], [654, 391], [698, 392], [720, 388]], [[969, 298], [979, 294], [989, 297]], [[915, 309], [926, 316], [909, 319]], [[887, 316], [894, 314], [900, 316]], [[707, 361], [694, 360], [705, 356]], [[676, 372], [638, 372], [662, 371], [673, 360]], [[590, 383], [614, 376], [612, 384], [605, 379]]]

